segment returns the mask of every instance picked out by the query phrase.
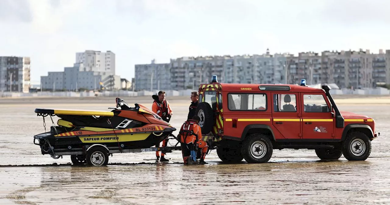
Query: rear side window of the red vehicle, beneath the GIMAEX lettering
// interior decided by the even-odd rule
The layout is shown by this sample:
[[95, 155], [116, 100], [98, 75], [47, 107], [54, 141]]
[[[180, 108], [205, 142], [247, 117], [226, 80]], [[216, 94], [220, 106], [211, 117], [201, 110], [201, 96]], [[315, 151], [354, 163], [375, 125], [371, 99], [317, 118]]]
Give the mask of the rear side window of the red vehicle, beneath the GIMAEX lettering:
[[229, 93], [228, 107], [231, 111], [266, 111], [267, 95], [265, 93]]

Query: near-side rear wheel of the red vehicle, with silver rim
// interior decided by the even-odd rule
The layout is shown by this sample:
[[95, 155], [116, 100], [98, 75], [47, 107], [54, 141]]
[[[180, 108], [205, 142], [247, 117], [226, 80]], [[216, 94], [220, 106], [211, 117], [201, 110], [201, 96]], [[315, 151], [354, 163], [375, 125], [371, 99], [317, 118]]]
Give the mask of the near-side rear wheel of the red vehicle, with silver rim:
[[267, 135], [253, 133], [244, 140], [241, 153], [248, 163], [265, 163], [271, 159], [273, 147]]

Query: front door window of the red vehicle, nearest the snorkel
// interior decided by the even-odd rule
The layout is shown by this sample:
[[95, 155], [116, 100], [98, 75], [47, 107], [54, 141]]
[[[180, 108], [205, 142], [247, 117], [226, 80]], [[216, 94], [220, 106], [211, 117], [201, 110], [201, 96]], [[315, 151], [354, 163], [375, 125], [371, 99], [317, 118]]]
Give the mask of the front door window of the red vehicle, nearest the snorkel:
[[304, 94], [303, 106], [305, 112], [330, 112], [322, 94]]

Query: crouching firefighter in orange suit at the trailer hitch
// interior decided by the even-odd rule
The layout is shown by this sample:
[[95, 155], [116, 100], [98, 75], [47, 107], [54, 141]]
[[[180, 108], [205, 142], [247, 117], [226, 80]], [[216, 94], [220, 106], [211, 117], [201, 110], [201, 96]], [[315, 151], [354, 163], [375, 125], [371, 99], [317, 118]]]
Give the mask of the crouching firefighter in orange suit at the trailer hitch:
[[195, 115], [188, 119], [180, 128], [181, 153], [184, 164], [192, 164], [197, 160], [197, 152], [201, 151], [199, 164], [207, 164], [204, 161], [209, 146], [202, 139], [202, 131], [198, 125], [199, 116]]

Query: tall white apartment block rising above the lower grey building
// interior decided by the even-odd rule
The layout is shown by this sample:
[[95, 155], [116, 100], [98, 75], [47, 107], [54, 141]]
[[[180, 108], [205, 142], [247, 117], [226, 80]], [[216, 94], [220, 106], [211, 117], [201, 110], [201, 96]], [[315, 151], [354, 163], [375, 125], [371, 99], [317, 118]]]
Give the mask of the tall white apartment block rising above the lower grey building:
[[83, 71], [110, 72], [115, 75], [115, 53], [86, 50], [76, 53], [76, 63], [83, 63]]

